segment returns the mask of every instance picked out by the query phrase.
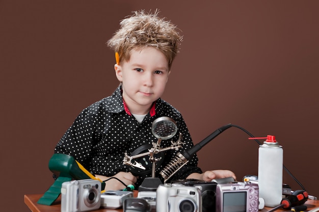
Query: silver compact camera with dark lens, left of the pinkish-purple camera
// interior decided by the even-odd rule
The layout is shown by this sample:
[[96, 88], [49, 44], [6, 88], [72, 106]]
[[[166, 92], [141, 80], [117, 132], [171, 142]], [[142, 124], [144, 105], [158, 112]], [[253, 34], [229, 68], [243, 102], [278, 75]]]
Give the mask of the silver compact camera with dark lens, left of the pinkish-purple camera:
[[200, 189], [180, 184], [159, 185], [156, 190], [156, 212], [200, 212]]

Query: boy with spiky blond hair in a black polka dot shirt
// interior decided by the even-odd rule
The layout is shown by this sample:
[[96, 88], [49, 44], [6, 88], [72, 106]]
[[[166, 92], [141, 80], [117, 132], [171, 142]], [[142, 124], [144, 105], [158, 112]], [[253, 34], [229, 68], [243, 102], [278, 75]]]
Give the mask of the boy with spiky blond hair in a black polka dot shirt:
[[[162, 116], [173, 118], [182, 134], [182, 147], [165, 152], [164, 161], [156, 168], [156, 177], [178, 152], [193, 146], [184, 120], [173, 106], [162, 100], [172, 62], [182, 37], [170, 21], [158, 17], [158, 12], [135, 12], [123, 19], [121, 28], [108, 41], [116, 52], [114, 66], [120, 85], [112, 96], [84, 109], [61, 138], [55, 153], [72, 155], [79, 163], [101, 180], [115, 177], [128, 185], [139, 187], [150, 172], [132, 174], [123, 164], [124, 154], [131, 155], [137, 148], [156, 142], [151, 132], [153, 121]], [[163, 140], [161, 147], [171, 145]], [[232, 176], [228, 170], [206, 171], [197, 167], [197, 156], [183, 166], [171, 179], [195, 178], [210, 181]], [[105, 189], [125, 188], [121, 181], [106, 181]]]

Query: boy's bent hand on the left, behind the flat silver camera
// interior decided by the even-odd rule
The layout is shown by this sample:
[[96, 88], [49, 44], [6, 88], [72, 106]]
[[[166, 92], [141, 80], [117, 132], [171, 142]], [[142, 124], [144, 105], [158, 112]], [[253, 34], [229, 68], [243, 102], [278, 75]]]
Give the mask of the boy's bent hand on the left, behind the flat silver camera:
[[[107, 176], [103, 176], [103, 175], [96, 175], [96, 177], [98, 177], [101, 180], [106, 180], [109, 179], [110, 177]], [[115, 174], [113, 177], [116, 177], [120, 180], [123, 181], [124, 184], [126, 185], [133, 185], [135, 186], [135, 183], [137, 181], [137, 177], [132, 175], [130, 172], [119, 172], [117, 174]], [[125, 186], [117, 179], [110, 179], [105, 181], [105, 191], [109, 191], [109, 190], [122, 190], [125, 189]]]

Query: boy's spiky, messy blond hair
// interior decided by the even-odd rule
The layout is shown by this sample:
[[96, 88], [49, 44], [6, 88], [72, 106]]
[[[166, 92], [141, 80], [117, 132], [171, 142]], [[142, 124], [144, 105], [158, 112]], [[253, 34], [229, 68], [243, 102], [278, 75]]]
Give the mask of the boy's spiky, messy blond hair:
[[108, 46], [119, 53], [120, 62], [129, 60], [132, 49], [155, 47], [164, 53], [171, 68], [182, 41], [176, 25], [159, 18], [158, 10], [154, 14], [144, 10], [133, 13], [121, 20], [120, 29], [108, 41]]

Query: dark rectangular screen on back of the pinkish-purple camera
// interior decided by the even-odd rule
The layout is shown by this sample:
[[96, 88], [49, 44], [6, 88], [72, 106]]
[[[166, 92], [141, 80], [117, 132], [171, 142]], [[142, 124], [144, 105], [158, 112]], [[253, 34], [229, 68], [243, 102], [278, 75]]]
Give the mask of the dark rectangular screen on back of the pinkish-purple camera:
[[223, 194], [223, 212], [246, 212], [247, 192], [225, 192]]

